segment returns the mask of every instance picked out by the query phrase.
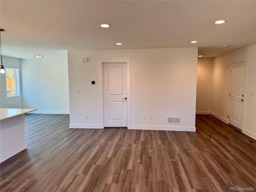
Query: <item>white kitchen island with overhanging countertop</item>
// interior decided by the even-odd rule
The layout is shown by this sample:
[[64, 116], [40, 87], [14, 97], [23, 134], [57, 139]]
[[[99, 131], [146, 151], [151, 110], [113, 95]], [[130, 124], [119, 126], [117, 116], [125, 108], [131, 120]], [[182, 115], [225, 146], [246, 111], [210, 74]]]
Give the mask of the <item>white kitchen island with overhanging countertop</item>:
[[0, 109], [0, 162], [26, 149], [25, 114], [37, 109]]

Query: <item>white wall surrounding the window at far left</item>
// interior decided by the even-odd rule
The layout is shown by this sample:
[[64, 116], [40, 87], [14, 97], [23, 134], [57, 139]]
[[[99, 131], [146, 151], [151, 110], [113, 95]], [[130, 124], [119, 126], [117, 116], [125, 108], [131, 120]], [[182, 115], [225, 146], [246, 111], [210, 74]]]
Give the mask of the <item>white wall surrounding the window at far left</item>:
[[[21, 75], [20, 75], [20, 59], [5, 57], [2, 56], [3, 66], [4, 68], [17, 68], [19, 70], [19, 80], [21, 82]], [[22, 89], [20, 84], [20, 96], [8, 97], [6, 92], [6, 76], [4, 74], [0, 74], [0, 107], [1, 108], [22, 108]]]

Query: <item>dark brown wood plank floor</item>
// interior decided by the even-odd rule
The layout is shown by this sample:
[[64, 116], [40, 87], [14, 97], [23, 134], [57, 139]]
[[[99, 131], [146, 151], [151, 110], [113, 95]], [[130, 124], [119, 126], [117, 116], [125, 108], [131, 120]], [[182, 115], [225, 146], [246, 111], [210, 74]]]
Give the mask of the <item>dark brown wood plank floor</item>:
[[256, 191], [256, 141], [210, 115], [196, 116], [196, 132], [25, 120], [27, 149], [1, 163], [1, 192]]

